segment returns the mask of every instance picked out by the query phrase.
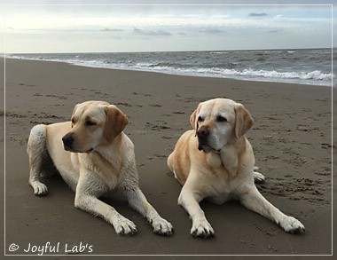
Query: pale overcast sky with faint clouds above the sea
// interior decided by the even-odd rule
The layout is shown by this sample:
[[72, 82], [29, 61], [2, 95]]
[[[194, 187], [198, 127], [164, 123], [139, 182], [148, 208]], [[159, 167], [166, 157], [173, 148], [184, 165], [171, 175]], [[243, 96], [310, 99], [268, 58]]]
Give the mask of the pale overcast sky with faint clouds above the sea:
[[[239, 0], [176, 2], [251, 3]], [[302, 2], [331, 4], [333, 1], [273, 3]], [[0, 33], [5, 34], [7, 53], [223, 51], [332, 46], [331, 5], [158, 5], [169, 1], [86, 0], [29, 1], [29, 4], [37, 5], [22, 3], [27, 1], [7, 1], [6, 4], [18, 5], [3, 5], [0, 9], [0, 15], [4, 17]], [[75, 5], [45, 5], [55, 3]], [[106, 5], [121, 3], [157, 5]], [[336, 25], [335, 21], [333, 23]]]

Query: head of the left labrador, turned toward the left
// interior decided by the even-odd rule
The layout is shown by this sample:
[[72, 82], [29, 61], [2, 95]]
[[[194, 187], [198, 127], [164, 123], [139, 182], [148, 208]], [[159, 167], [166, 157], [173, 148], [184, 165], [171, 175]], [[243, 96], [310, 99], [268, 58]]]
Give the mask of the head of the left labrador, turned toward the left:
[[128, 124], [117, 106], [104, 101], [87, 101], [74, 106], [72, 129], [62, 138], [65, 150], [89, 153], [99, 145], [112, 143]]

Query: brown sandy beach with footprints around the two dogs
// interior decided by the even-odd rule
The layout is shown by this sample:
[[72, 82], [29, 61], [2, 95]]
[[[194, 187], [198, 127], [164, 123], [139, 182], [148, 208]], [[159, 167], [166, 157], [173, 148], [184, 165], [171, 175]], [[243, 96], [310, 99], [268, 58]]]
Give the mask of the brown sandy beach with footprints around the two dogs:
[[[91, 246], [90, 254], [95, 255], [331, 254], [331, 88], [20, 59], [6, 59], [5, 68], [6, 254], [36, 254], [26, 252], [29, 244], [47, 242], [59, 247], [56, 253], [61, 255], [83, 245], [82, 254], [89, 254]], [[236, 201], [222, 206], [203, 201], [201, 208], [216, 236], [202, 240], [190, 235], [192, 222], [177, 205], [181, 186], [166, 160], [177, 138], [192, 128], [190, 114], [199, 102], [219, 97], [241, 102], [253, 115], [255, 124], [247, 138], [256, 165], [266, 176], [265, 183], [257, 187], [278, 209], [298, 218], [307, 229], [305, 234], [288, 234]], [[135, 145], [140, 187], [161, 216], [174, 225], [172, 237], [153, 234], [146, 220], [125, 201], [108, 198], [104, 201], [138, 228], [135, 236], [117, 235], [104, 220], [74, 208], [74, 193], [60, 177], [45, 180], [50, 191], [45, 197], [36, 197], [27, 184], [29, 130], [38, 123], [69, 120], [74, 105], [90, 99], [108, 101], [128, 115], [124, 132]], [[11, 252], [12, 243], [19, 248]]]

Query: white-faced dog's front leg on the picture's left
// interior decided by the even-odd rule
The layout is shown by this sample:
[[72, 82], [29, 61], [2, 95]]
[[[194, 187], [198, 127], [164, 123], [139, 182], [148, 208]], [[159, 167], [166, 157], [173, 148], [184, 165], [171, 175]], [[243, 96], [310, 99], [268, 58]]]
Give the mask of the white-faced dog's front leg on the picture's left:
[[178, 204], [183, 206], [192, 218], [191, 234], [196, 237], [207, 238], [214, 235], [214, 230], [206, 219], [204, 211], [200, 208], [199, 202], [202, 199], [204, 198], [184, 185], [178, 198]]

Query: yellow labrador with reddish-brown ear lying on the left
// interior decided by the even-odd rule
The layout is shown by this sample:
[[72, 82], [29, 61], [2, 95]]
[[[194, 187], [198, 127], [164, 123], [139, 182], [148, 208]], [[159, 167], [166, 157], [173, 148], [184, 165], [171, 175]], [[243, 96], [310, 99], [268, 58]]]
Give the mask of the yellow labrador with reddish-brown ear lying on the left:
[[74, 107], [71, 122], [36, 125], [30, 132], [29, 184], [35, 195], [48, 193], [40, 182], [43, 160], [48, 156], [75, 192], [74, 207], [103, 217], [119, 234], [137, 232], [136, 225], [98, 197], [120, 190], [153, 225], [153, 232], [170, 235], [172, 225], [161, 218], [138, 187], [131, 140], [123, 133], [128, 118], [119, 108], [103, 101], [87, 101]]

